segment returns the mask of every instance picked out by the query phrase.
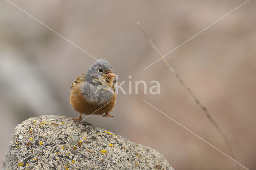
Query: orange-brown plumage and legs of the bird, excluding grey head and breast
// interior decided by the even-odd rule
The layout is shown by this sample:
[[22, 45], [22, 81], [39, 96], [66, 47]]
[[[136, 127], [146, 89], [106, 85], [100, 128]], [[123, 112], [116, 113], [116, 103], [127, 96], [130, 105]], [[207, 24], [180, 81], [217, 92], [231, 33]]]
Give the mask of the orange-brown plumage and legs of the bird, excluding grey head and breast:
[[106, 70], [105, 75], [103, 75], [102, 77], [98, 79], [92, 79], [95, 82], [100, 82], [100, 85], [95, 85], [98, 89], [102, 91], [114, 91], [112, 98], [108, 101], [109, 103], [94, 103], [86, 98], [86, 95], [83, 93], [83, 85], [84, 83], [86, 83], [85, 73], [78, 76], [76, 80], [72, 83], [70, 104], [75, 111], [78, 111], [80, 113], [78, 119], [75, 119], [77, 120], [77, 123], [82, 120], [82, 114], [91, 115], [93, 113], [94, 115], [102, 115], [105, 113], [103, 117], [113, 117], [109, 114], [109, 112], [114, 109], [116, 104], [116, 94], [113, 85], [115, 75], [113, 74], [113, 72], [114, 71], [112, 71], [112, 69], [108, 69]]

